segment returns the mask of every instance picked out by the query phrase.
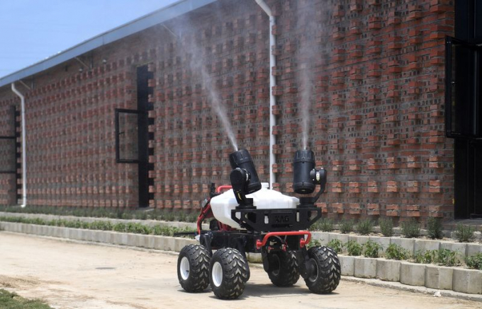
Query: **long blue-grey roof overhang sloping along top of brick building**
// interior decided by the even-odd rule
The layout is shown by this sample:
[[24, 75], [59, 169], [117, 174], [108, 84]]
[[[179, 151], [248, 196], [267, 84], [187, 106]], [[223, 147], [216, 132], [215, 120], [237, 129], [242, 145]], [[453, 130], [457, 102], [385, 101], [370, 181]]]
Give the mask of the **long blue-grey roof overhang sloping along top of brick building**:
[[107, 31], [106, 33], [102, 33], [101, 35], [92, 37], [90, 40], [86, 40], [78, 45], [75, 45], [74, 47], [66, 49], [63, 52], [59, 52], [52, 57], [48, 57], [45, 60], [37, 62], [36, 64], [27, 66], [25, 69], [21, 69], [20, 71], [16, 71], [12, 74], [4, 76], [0, 78], [0, 87], [3, 87], [15, 81], [19, 81], [23, 78], [28, 78], [29, 76], [33, 76], [34, 74], [37, 74], [41, 71], [50, 69], [53, 66], [57, 66], [58, 64], [67, 62], [70, 59], [79, 57], [80, 55], [85, 54], [86, 52], [90, 52], [91, 50], [94, 50], [98, 47], [107, 45], [111, 42], [115, 42], [122, 39], [123, 37], [127, 37], [128, 35], [133, 35], [134, 33], [138, 33], [154, 25], [163, 23], [164, 21], [169, 21], [172, 18], [176, 18], [190, 11], [194, 11], [196, 10], [196, 8], [201, 8], [201, 6], [206, 6], [207, 4], [211, 4], [215, 1], [217, 0], [178, 1], [174, 4], [171, 4], [170, 6], [161, 8], [157, 11], [135, 19], [130, 23], [125, 23], [124, 25], [120, 25], [113, 30]]

